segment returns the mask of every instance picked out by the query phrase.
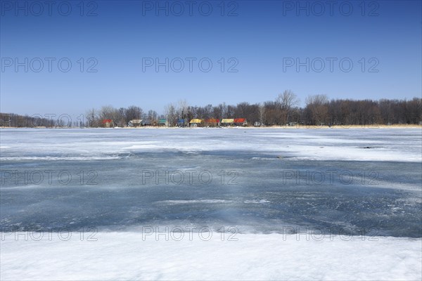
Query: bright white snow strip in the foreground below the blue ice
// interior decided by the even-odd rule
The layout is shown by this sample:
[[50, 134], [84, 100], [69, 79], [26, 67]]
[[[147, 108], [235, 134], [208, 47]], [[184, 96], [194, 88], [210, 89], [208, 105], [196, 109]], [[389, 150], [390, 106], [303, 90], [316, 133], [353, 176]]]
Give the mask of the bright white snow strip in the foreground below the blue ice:
[[[6, 240], [1, 280], [421, 280], [421, 240], [361, 237], [283, 241], [279, 234], [203, 241], [142, 240], [100, 233], [97, 241]], [[373, 238], [376, 239], [376, 238]], [[55, 241], [56, 240], [56, 241]]]

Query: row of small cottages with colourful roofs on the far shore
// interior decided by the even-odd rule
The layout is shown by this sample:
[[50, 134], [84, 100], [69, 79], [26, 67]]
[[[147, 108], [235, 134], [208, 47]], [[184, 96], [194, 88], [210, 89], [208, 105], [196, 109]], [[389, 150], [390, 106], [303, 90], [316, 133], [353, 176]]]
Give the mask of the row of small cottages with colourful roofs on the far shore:
[[[112, 119], [103, 119], [102, 122], [103, 126], [111, 127], [114, 126], [114, 122]], [[159, 119], [157, 121], [151, 122], [148, 119], [134, 119], [129, 121], [127, 126], [129, 127], [139, 127], [139, 126], [169, 126], [169, 122], [167, 119]], [[191, 126], [191, 127], [200, 127], [200, 126], [247, 126], [248, 122], [245, 118], [234, 118], [234, 119], [191, 119], [188, 121], [187, 119], [178, 119], [176, 126], [184, 127], [184, 126]]]

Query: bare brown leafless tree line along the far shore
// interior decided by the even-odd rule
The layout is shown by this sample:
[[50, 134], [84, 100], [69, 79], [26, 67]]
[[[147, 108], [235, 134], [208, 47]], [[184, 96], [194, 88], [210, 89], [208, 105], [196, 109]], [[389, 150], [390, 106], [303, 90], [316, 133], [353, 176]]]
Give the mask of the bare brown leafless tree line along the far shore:
[[[113, 120], [113, 126], [127, 126], [134, 119], [148, 120], [158, 124], [166, 119], [167, 126], [187, 125], [191, 119], [245, 118], [249, 126], [291, 126], [304, 124], [314, 126], [366, 125], [366, 124], [421, 124], [422, 98], [411, 100], [351, 100], [328, 99], [326, 95], [313, 95], [305, 99], [305, 107], [299, 106], [299, 98], [286, 90], [274, 100], [264, 103], [237, 105], [188, 105], [186, 100], [165, 106], [164, 115], [154, 110], [144, 112], [141, 107], [115, 108], [111, 105], [88, 110], [83, 119], [67, 122], [66, 118], [44, 118], [0, 113], [0, 126], [104, 126], [104, 120]], [[26, 118], [26, 119], [25, 119]], [[23, 122], [23, 119], [26, 122]], [[180, 121], [184, 120], [184, 123]]]

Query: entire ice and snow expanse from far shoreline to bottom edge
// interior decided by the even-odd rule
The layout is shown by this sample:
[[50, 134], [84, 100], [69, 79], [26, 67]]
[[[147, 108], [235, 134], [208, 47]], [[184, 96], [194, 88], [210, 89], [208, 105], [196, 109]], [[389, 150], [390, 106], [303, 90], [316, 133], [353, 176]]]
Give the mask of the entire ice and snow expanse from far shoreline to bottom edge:
[[1, 280], [421, 280], [421, 129], [1, 129]]

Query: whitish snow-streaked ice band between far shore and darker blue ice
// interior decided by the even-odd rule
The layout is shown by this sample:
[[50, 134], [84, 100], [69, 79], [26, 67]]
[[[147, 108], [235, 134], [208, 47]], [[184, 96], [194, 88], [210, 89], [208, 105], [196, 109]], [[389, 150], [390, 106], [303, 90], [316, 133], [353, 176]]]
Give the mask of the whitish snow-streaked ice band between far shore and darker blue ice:
[[[229, 150], [283, 155], [293, 159], [418, 163], [422, 161], [420, 129], [58, 129], [56, 131], [1, 129], [1, 131], [2, 160], [80, 161], [99, 159], [98, 157], [123, 158], [153, 151], [200, 153]], [[28, 150], [28, 147], [31, 149]], [[364, 149], [366, 147], [372, 149]]]

